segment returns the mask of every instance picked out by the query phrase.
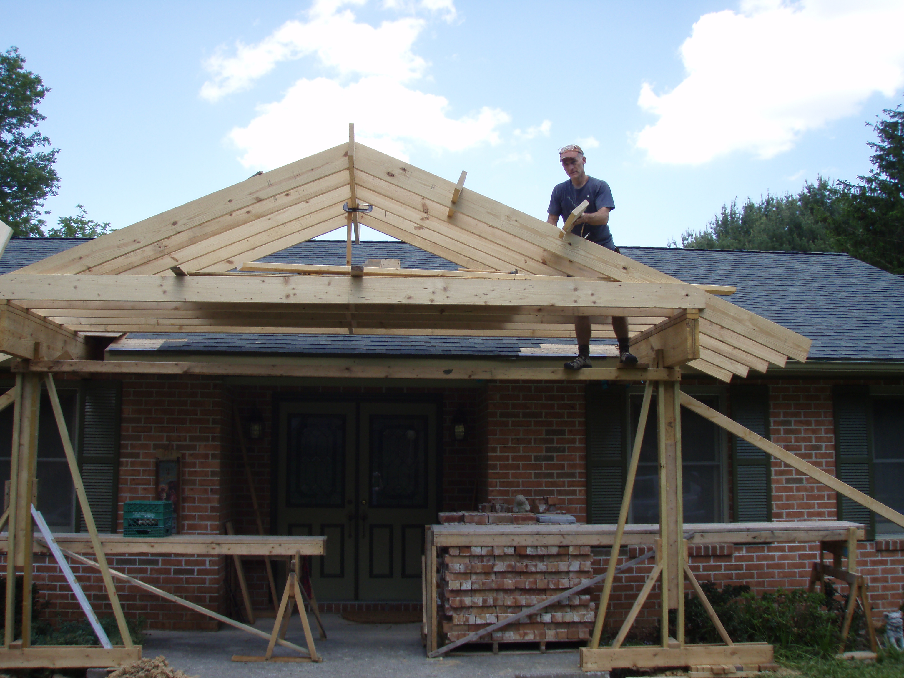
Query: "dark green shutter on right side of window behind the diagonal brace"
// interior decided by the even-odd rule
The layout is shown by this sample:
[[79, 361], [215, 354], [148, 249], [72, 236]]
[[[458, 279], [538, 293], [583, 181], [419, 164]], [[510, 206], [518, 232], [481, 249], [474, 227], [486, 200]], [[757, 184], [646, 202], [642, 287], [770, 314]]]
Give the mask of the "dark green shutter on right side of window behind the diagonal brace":
[[[731, 389], [731, 419], [769, 438], [769, 389], [739, 385]], [[734, 480], [736, 523], [772, 520], [771, 457], [747, 440], [732, 436], [731, 474]]]

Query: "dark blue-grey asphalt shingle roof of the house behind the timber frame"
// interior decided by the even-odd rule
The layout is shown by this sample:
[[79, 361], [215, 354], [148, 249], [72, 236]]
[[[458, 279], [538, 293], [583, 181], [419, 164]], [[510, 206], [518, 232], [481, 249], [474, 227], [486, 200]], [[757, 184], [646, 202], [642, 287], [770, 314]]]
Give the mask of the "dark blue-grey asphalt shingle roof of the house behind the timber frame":
[[[0, 274], [84, 242], [14, 238]], [[846, 254], [623, 247], [622, 252], [686, 282], [734, 285], [732, 303], [813, 340], [811, 360], [904, 360], [904, 278]], [[403, 268], [457, 265], [398, 241], [363, 241], [353, 263], [401, 259]], [[311, 240], [260, 261], [344, 265], [344, 240]], [[160, 337], [129, 334], [130, 338]], [[514, 356], [523, 347], [574, 340], [517, 337], [359, 336], [345, 334], [169, 334], [157, 350], [229, 353], [372, 353]], [[596, 342], [595, 342], [596, 343]], [[608, 344], [601, 341], [600, 344]]]

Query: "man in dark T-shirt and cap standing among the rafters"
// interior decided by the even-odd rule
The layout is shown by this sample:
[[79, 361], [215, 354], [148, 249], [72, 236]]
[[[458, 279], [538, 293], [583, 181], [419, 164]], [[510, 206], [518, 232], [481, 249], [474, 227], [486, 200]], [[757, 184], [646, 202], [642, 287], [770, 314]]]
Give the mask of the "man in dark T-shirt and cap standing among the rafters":
[[[569, 175], [567, 181], [557, 184], [552, 189], [550, 207], [547, 210], [549, 217], [546, 221], [553, 226], [562, 220], [568, 219], [571, 212], [585, 200], [589, 202], [587, 210], [574, 222], [572, 233], [595, 242], [608, 250], [621, 253], [612, 240], [609, 231], [609, 212], [616, 209], [616, 203], [612, 201], [612, 191], [609, 184], [601, 179], [588, 176], [584, 171], [587, 158], [584, 151], [576, 144], [562, 146], [559, 149], [559, 162]], [[622, 363], [635, 364], [637, 359], [628, 351], [627, 318], [612, 316], [612, 329], [615, 330], [618, 339], [618, 354]], [[569, 370], [580, 370], [583, 367], [593, 367], [590, 363], [590, 318], [587, 315], [578, 315], [574, 319], [574, 332], [578, 337], [578, 357], [570, 363], [565, 363]]]

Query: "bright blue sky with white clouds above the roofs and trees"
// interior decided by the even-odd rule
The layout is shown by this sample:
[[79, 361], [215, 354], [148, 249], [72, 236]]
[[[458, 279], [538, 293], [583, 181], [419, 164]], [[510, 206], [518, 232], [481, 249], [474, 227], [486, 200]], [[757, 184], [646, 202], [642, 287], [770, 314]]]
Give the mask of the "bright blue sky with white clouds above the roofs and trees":
[[855, 181], [866, 123], [904, 102], [900, 0], [0, 0], [0, 16], [0, 49], [51, 88], [51, 225], [81, 203], [127, 226], [353, 122], [544, 220], [557, 149], [581, 144], [616, 244], [663, 247], [726, 202]]

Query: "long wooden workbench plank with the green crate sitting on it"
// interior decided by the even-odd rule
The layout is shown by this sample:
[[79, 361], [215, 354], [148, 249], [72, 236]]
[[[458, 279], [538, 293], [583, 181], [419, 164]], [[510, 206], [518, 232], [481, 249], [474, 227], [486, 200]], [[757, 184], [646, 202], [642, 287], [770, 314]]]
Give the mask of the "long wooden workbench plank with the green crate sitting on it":
[[[91, 541], [84, 532], [61, 532], [53, 535], [64, 549], [76, 553], [89, 553]], [[182, 553], [185, 555], [237, 555], [237, 556], [291, 556], [301, 551], [306, 556], [322, 556], [326, 537], [297, 537], [287, 535], [238, 534], [174, 534], [171, 537], [137, 538], [121, 534], [101, 534], [100, 543], [107, 555], [124, 553]], [[6, 551], [5, 538], [0, 540], [0, 551]], [[34, 552], [50, 552], [35, 541]]]

